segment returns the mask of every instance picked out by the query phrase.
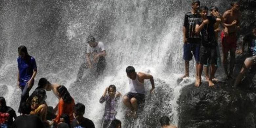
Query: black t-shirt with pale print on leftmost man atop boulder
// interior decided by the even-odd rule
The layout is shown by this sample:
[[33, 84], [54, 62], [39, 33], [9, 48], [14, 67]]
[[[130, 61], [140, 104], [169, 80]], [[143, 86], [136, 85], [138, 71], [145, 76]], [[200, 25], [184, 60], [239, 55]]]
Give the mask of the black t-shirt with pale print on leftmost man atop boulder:
[[187, 12], [184, 16], [183, 26], [186, 28], [186, 38], [200, 38], [199, 34], [196, 34], [195, 28], [197, 20], [200, 19], [200, 14], [192, 14], [192, 12]]

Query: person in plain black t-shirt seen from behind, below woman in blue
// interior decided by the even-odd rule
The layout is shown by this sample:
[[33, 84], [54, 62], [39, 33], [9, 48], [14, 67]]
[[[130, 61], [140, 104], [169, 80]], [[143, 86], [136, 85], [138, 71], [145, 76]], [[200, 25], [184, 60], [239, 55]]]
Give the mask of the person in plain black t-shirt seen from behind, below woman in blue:
[[14, 123], [13, 128], [44, 128], [43, 122], [38, 116], [30, 115], [30, 104], [24, 102], [20, 106], [21, 116], [18, 116]]

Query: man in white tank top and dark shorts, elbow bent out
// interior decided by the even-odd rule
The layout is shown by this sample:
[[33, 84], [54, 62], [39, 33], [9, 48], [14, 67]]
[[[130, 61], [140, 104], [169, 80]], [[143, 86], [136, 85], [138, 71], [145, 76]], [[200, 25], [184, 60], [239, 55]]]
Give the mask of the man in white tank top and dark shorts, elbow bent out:
[[136, 116], [138, 105], [144, 104], [145, 102], [144, 80], [150, 79], [152, 85], [150, 93], [152, 93], [155, 89], [154, 78], [149, 74], [135, 72], [132, 66], [126, 68], [126, 74], [129, 80], [130, 92], [123, 97], [123, 103], [131, 110], [132, 114]]

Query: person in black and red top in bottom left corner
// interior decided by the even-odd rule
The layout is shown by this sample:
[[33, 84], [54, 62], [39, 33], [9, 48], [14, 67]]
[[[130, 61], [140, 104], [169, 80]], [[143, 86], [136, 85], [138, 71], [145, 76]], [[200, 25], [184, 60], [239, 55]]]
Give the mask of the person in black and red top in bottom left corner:
[[6, 106], [5, 98], [0, 97], [0, 124], [5, 123], [8, 128], [11, 128], [13, 118], [16, 119], [16, 117], [15, 111], [11, 107]]

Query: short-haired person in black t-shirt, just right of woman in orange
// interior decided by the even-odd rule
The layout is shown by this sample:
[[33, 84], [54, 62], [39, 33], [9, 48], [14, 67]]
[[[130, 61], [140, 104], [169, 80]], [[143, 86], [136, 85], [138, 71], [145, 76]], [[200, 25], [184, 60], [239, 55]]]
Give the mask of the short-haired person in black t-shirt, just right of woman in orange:
[[71, 122], [71, 128], [95, 128], [92, 120], [83, 117], [85, 113], [85, 106], [77, 103], [74, 107], [75, 119]]

